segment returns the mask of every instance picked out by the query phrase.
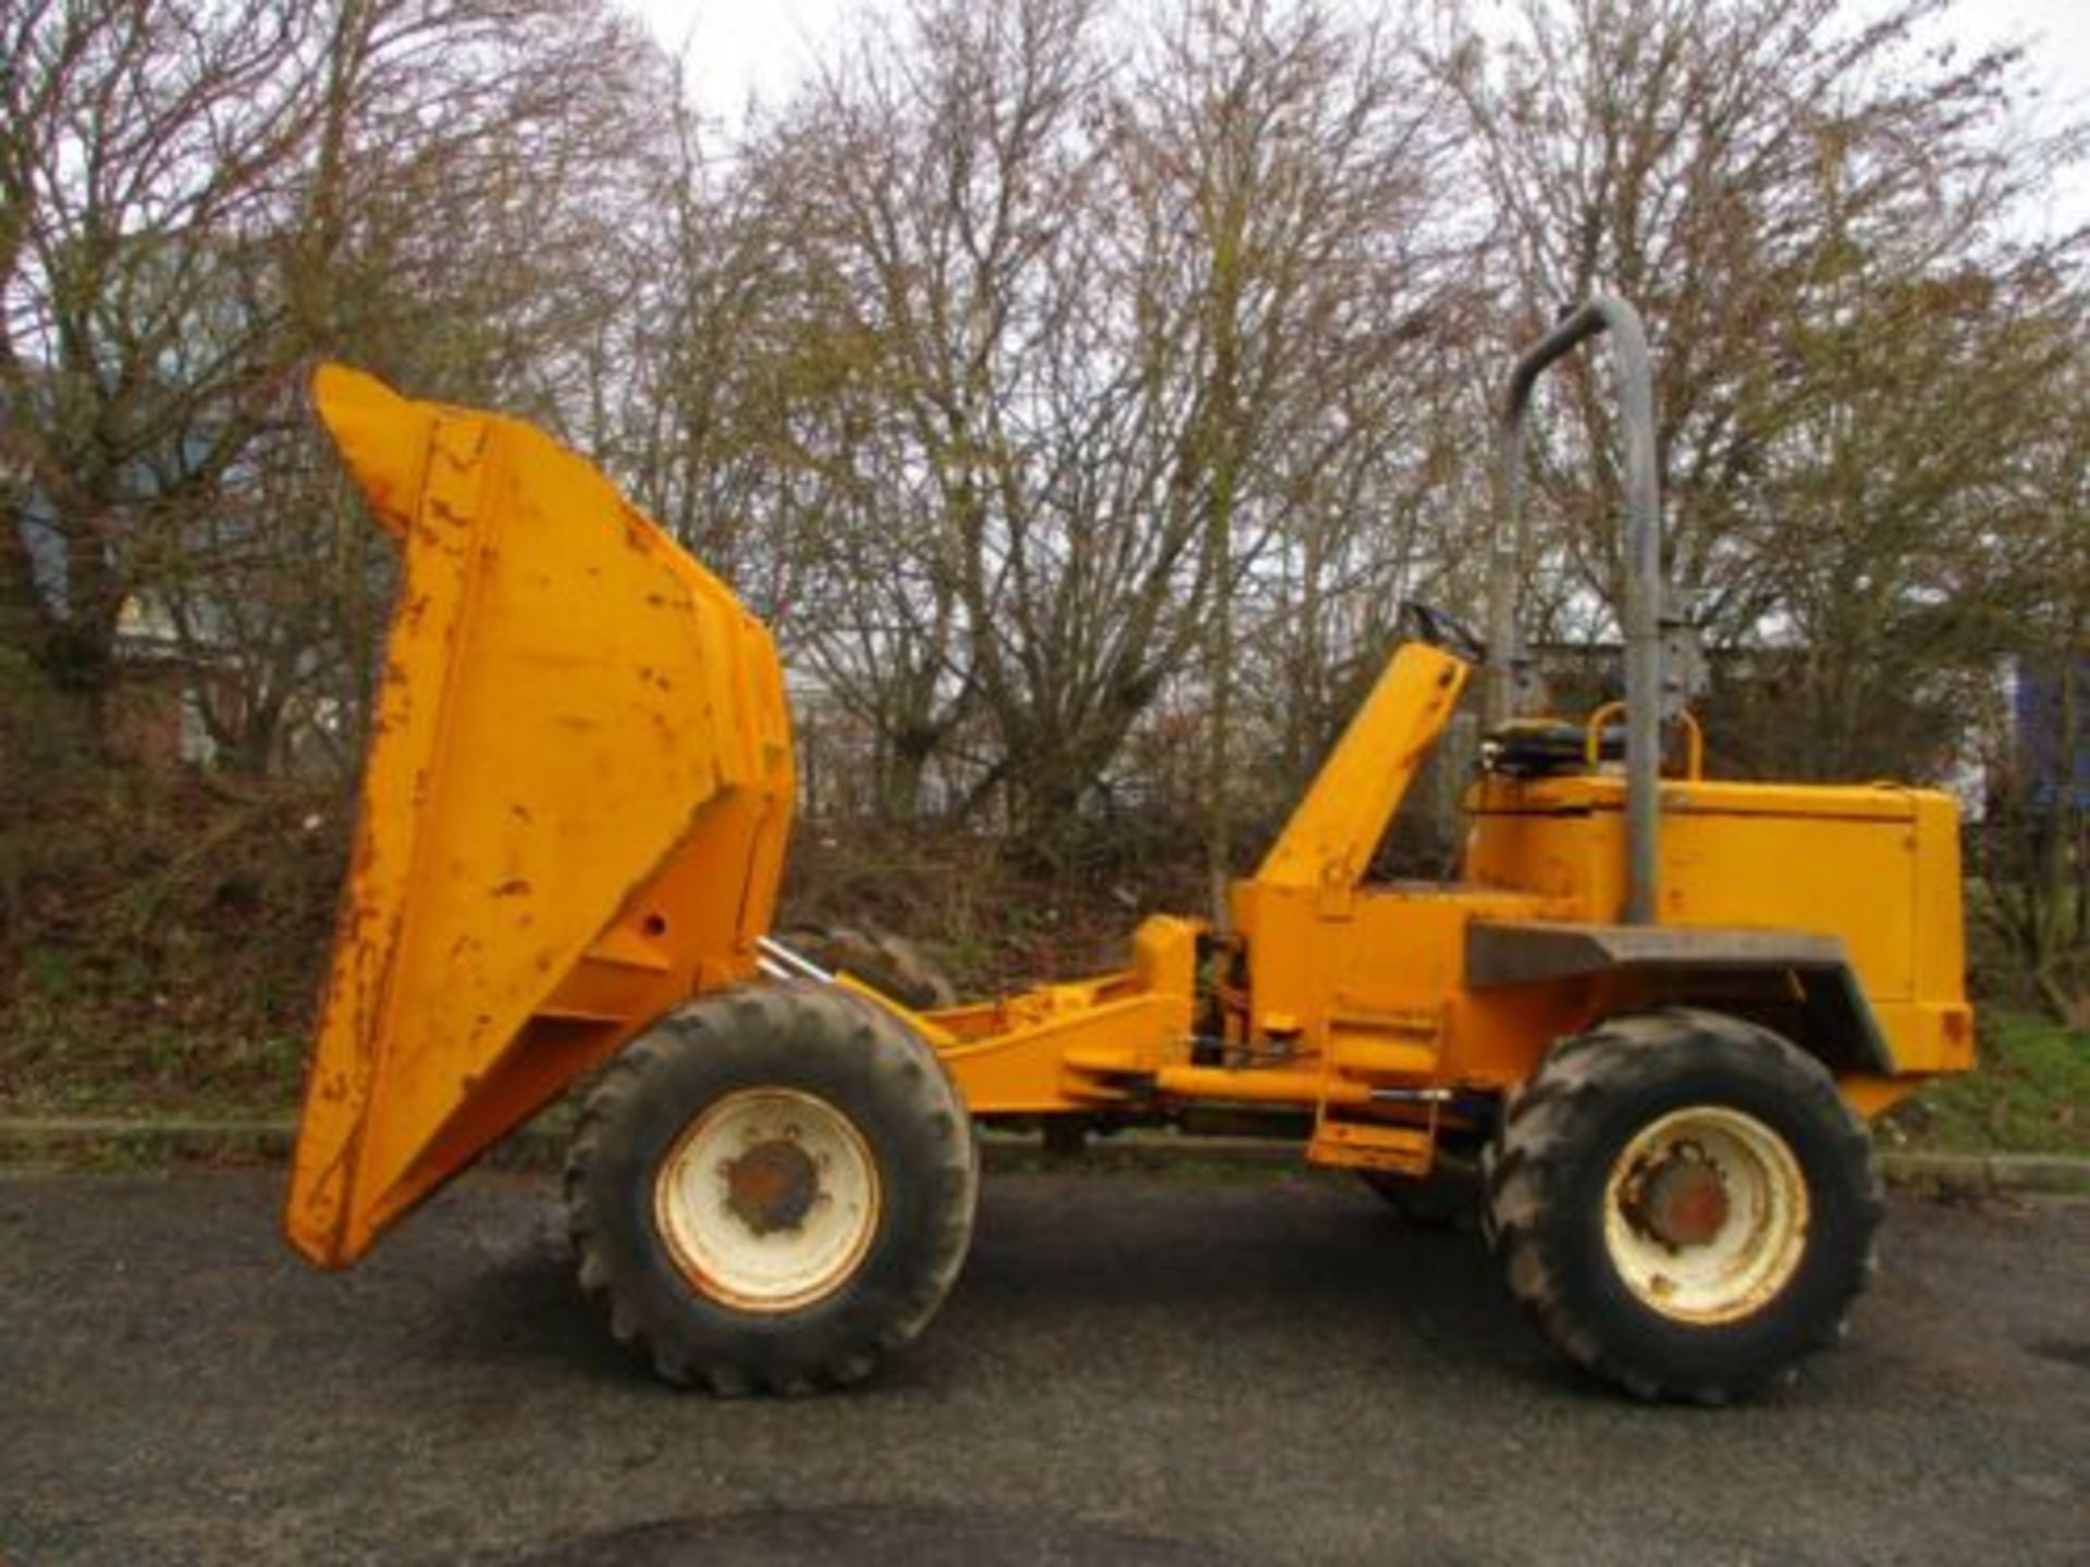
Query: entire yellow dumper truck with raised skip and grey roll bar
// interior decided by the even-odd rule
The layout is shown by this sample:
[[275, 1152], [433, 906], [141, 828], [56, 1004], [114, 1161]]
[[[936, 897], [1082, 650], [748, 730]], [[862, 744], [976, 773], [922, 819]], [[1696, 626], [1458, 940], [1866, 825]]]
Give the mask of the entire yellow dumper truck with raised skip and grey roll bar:
[[[1626, 698], [1522, 710], [1532, 387], [1609, 330]], [[771, 936], [792, 731], [765, 627], [535, 428], [345, 368], [320, 416], [403, 547], [286, 1229], [347, 1266], [604, 1068], [581, 1287], [667, 1379], [867, 1377], [957, 1279], [976, 1122], [1225, 1107], [1402, 1199], [1478, 1168], [1509, 1289], [1576, 1362], [1722, 1402], [1829, 1343], [1873, 1266], [1866, 1118], [1973, 1059], [1952, 800], [1703, 775], [1662, 602], [1641, 322], [1515, 368], [1488, 637], [1419, 610], [1223, 928], [920, 1011]], [[1367, 871], [1484, 673], [1459, 880]], [[1622, 746], [1618, 740], [1622, 738]]]

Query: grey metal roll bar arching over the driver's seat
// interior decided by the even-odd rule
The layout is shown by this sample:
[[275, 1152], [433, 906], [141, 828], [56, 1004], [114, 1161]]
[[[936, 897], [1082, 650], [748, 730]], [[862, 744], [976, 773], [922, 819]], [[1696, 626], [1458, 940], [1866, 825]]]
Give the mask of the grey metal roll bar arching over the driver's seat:
[[1626, 909], [1645, 926], [1657, 907], [1662, 813], [1662, 485], [1655, 476], [1655, 387], [1641, 313], [1597, 295], [1563, 315], [1509, 372], [1503, 401], [1501, 468], [1507, 527], [1488, 554], [1488, 723], [1513, 717], [1528, 658], [1517, 629], [1517, 570], [1526, 556], [1524, 424], [1538, 376], [1599, 332], [1611, 332], [1620, 405], [1626, 416]]

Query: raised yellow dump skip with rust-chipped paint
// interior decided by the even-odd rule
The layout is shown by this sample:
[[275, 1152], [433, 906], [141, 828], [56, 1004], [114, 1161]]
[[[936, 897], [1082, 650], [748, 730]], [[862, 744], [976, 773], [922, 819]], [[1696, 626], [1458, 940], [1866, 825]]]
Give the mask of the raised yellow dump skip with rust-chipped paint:
[[754, 969], [792, 754], [769, 633], [587, 462], [339, 366], [314, 401], [405, 552], [286, 1214], [341, 1266]]

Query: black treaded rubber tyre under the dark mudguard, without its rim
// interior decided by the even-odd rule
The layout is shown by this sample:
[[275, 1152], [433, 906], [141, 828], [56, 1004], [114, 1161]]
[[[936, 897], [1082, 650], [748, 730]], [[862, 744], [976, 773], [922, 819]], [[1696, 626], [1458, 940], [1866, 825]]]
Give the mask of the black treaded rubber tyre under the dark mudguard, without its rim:
[[[1739, 1095], [1787, 1143], [1812, 1218], [1797, 1272], [1764, 1308], [1685, 1327], [1609, 1277], [1603, 1178], [1639, 1126], [1708, 1093]], [[1871, 1137], [1829, 1072], [1766, 1028], [1685, 1007], [1613, 1018], [1555, 1045], [1509, 1103], [1484, 1180], [1509, 1291], [1570, 1360], [1643, 1400], [1726, 1404], [1837, 1346], [1885, 1216]]]

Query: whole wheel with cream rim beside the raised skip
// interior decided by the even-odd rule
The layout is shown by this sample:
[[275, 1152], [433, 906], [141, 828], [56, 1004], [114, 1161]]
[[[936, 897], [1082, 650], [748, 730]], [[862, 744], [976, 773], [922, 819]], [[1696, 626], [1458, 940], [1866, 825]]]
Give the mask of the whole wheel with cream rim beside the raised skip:
[[729, 990], [625, 1049], [566, 1160], [581, 1287], [667, 1381], [807, 1394], [936, 1314], [978, 1195], [966, 1105], [867, 1001]]

